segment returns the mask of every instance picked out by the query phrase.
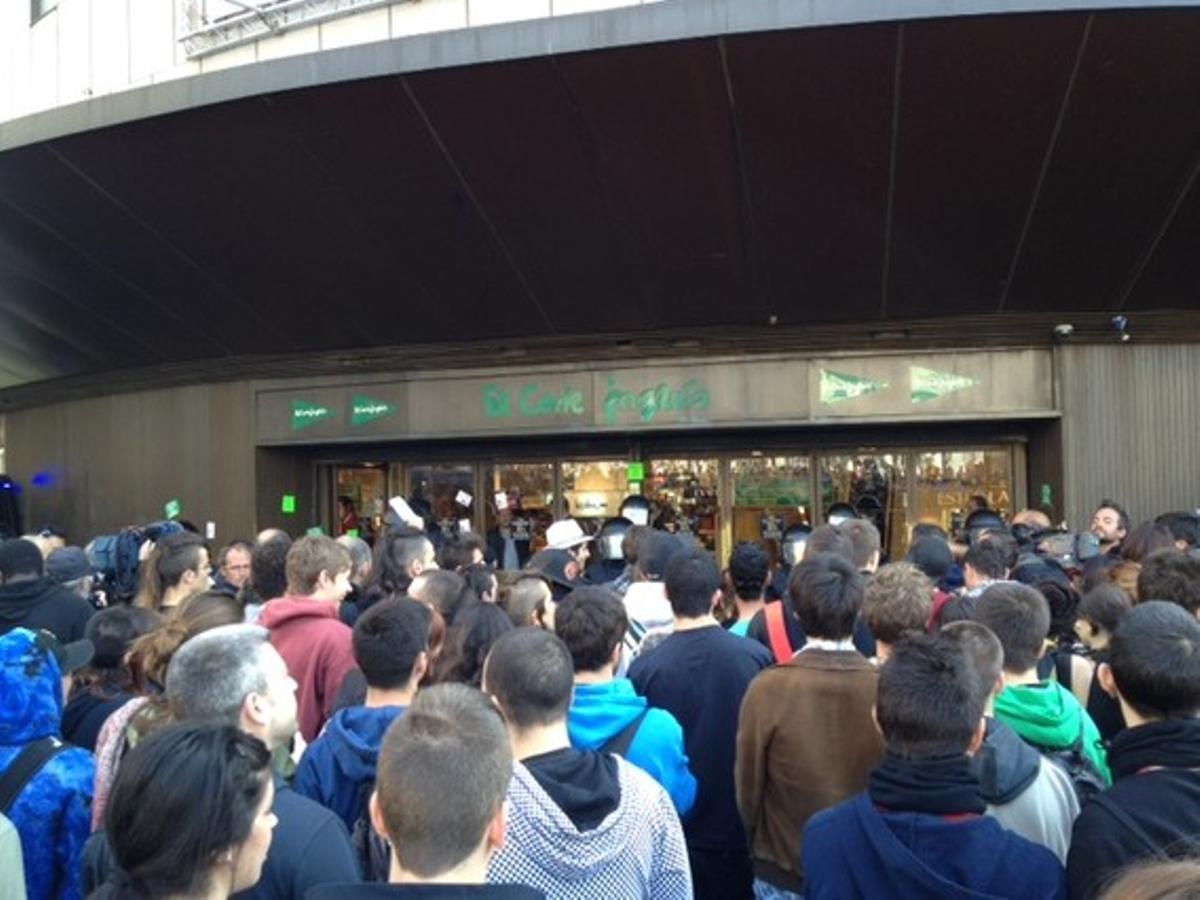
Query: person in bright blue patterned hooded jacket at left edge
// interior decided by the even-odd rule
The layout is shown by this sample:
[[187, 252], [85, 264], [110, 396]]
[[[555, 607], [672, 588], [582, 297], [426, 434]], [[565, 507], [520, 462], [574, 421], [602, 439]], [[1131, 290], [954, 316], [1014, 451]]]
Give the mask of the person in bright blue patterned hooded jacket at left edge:
[[[83, 896], [83, 845], [91, 834], [96, 767], [86, 750], [59, 739], [59, 722], [66, 679], [91, 654], [90, 641], [62, 644], [49, 631], [17, 628], [0, 637], [0, 779], [26, 748], [50, 754], [8, 808], [0, 809], [20, 834], [31, 898]], [[12, 872], [0, 872], [0, 881], [6, 875]]]

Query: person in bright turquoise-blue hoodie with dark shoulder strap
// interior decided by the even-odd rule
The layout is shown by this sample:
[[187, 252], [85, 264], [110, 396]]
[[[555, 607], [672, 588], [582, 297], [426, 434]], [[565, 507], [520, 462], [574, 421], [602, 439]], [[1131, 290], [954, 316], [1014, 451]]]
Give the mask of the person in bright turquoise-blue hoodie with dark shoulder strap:
[[554, 611], [554, 634], [575, 666], [568, 734], [576, 749], [616, 752], [647, 772], [666, 788], [682, 818], [696, 802], [683, 728], [671, 713], [638, 696], [632, 682], [616, 677], [628, 626], [625, 605], [606, 587], [576, 588]]

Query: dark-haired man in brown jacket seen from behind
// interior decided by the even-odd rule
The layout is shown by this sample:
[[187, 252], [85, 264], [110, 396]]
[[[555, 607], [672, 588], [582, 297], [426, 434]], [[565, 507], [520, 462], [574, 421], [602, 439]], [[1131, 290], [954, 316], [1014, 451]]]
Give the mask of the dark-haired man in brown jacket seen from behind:
[[863, 576], [842, 557], [817, 553], [793, 570], [787, 590], [806, 642], [754, 679], [738, 721], [738, 811], [760, 900], [803, 894], [805, 823], [865, 790], [883, 758], [871, 719], [878, 674], [851, 641]]

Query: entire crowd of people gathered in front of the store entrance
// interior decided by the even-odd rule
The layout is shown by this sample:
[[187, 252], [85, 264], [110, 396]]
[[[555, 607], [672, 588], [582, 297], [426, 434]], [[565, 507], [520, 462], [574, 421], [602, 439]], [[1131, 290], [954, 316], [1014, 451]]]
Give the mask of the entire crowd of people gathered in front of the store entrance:
[[6, 540], [0, 898], [1200, 896], [1200, 515], [980, 506]]

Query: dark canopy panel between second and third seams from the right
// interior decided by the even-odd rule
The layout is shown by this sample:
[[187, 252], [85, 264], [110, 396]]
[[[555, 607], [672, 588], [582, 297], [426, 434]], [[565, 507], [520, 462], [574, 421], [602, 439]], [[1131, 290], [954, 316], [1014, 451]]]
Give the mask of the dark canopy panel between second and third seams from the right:
[[1084, 31], [1079, 16], [905, 26], [888, 308], [996, 308]]

